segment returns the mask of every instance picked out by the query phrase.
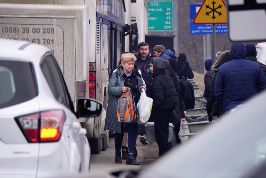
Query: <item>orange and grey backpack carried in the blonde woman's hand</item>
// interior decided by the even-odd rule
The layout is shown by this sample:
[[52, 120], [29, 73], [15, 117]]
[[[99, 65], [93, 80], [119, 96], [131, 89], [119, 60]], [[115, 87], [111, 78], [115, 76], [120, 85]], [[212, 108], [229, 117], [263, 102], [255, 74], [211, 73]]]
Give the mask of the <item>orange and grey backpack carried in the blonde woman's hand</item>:
[[138, 110], [134, 102], [134, 97], [131, 88], [127, 87], [128, 91], [124, 92], [118, 99], [117, 103], [117, 119], [119, 122], [133, 123], [136, 122]]

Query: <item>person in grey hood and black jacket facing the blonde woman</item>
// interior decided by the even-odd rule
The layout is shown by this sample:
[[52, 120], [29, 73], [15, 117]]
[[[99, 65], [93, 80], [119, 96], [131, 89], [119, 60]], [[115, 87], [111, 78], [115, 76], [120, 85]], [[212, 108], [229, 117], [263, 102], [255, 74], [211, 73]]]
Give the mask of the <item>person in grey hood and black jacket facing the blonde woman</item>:
[[159, 146], [159, 158], [171, 148], [168, 143], [169, 122], [177, 104], [175, 85], [166, 74], [169, 61], [163, 58], [153, 58], [150, 62], [152, 83], [150, 97], [152, 102], [152, 115], [154, 118], [155, 139]]

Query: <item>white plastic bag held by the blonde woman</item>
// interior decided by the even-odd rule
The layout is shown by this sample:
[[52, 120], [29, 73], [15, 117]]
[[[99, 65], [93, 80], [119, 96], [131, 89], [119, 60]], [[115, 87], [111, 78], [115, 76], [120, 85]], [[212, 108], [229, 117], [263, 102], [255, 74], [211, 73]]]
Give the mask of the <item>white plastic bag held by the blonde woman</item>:
[[137, 118], [137, 123], [140, 125], [144, 125], [148, 122], [150, 118], [150, 111], [152, 107], [153, 99], [147, 97], [145, 90], [141, 90], [140, 100], [137, 104], [137, 109], [139, 112], [139, 117]]

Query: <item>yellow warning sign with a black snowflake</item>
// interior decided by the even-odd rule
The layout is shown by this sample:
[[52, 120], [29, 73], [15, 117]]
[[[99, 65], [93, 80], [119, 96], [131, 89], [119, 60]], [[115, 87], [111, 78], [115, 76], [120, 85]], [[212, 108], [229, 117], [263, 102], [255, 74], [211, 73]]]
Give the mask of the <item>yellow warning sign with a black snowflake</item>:
[[195, 24], [226, 24], [227, 6], [224, 0], [204, 0], [193, 23]]

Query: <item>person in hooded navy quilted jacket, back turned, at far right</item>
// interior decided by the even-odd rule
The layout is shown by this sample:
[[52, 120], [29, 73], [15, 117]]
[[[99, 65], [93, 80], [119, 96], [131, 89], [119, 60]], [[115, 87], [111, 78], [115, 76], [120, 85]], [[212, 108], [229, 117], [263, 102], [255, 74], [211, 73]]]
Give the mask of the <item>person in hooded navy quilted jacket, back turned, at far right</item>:
[[266, 87], [266, 77], [259, 64], [246, 60], [244, 43], [231, 45], [232, 60], [219, 67], [214, 82], [216, 99], [229, 112]]

